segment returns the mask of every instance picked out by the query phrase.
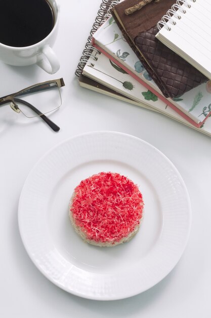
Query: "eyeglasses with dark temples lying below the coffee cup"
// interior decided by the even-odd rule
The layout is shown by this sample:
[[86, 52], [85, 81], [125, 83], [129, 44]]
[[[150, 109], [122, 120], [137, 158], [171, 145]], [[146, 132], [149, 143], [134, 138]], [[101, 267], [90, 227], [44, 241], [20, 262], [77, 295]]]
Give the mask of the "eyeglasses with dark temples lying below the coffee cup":
[[55, 111], [62, 105], [60, 87], [64, 85], [63, 78], [38, 83], [0, 98], [0, 106], [8, 104], [15, 112], [22, 113], [28, 118], [39, 116], [53, 131], [58, 132], [59, 126], [45, 114]]

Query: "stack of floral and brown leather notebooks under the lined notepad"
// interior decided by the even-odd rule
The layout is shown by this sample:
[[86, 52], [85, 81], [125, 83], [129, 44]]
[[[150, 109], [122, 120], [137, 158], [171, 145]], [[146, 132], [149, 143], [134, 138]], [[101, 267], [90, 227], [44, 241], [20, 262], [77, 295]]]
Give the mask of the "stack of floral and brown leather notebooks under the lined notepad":
[[[211, 81], [156, 39], [163, 29], [159, 31], [159, 24], [165, 24], [166, 30], [175, 26], [172, 17], [168, 22], [162, 20], [166, 3], [174, 9], [174, 1], [160, 0], [164, 5], [156, 7], [156, 15], [149, 19], [153, 11], [146, 8], [155, 8], [153, 1], [145, 9], [125, 15], [125, 8], [139, 1], [103, 0], [76, 75], [82, 87], [160, 112], [211, 136]], [[183, 8], [179, 10], [182, 14]], [[140, 14], [141, 21], [147, 17], [144, 27]]]

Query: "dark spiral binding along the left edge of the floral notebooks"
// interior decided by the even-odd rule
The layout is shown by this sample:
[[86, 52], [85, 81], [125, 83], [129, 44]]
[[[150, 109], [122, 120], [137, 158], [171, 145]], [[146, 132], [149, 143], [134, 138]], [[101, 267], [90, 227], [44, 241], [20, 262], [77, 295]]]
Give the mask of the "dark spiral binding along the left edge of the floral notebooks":
[[80, 76], [82, 73], [83, 68], [85, 67], [88, 59], [92, 56], [94, 60], [97, 60], [96, 53], [100, 54], [100, 51], [98, 51], [95, 47], [91, 45], [92, 36], [97, 31], [99, 26], [101, 26], [111, 15], [110, 9], [112, 9], [115, 5], [119, 3], [119, 0], [102, 0], [102, 3], [100, 5], [100, 9], [98, 11], [97, 17], [95, 18], [95, 22], [92, 26], [92, 29], [90, 31], [90, 35], [87, 39], [87, 43], [85, 45], [85, 49], [82, 52], [82, 55], [80, 57], [77, 69], [75, 71], [75, 75], [77, 77]]

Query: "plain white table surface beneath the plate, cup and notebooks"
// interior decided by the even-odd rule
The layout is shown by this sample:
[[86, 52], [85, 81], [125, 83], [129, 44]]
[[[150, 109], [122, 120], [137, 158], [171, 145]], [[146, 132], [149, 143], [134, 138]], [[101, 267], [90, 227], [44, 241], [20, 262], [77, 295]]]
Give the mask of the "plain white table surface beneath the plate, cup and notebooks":
[[[14, 120], [11, 115], [11, 120], [5, 121], [0, 114], [0, 316], [208, 318], [211, 138], [160, 114], [79, 87], [74, 71], [101, 0], [58, 2], [60, 29], [54, 49], [60, 70], [49, 75], [37, 66], [18, 68], [0, 61], [0, 96], [59, 77], [66, 84], [63, 106], [51, 116], [61, 127], [58, 133], [39, 119], [17, 116]], [[40, 156], [68, 137], [99, 130], [131, 134], [162, 151], [182, 175], [192, 206], [190, 238], [174, 270], [140, 295], [105, 302], [73, 296], [44, 277], [23, 247], [17, 222], [22, 186]]]

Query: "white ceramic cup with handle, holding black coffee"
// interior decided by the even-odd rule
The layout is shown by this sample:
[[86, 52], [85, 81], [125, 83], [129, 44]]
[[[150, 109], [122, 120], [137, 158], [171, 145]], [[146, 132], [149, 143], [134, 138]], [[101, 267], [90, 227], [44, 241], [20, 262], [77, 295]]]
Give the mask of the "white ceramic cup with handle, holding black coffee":
[[37, 64], [49, 74], [59, 70], [59, 61], [52, 50], [58, 33], [59, 8], [55, 0], [48, 0], [54, 12], [54, 27], [43, 40], [26, 47], [13, 47], [0, 43], [0, 59], [14, 66], [28, 66]]

